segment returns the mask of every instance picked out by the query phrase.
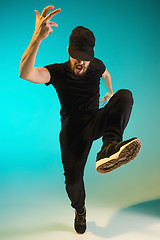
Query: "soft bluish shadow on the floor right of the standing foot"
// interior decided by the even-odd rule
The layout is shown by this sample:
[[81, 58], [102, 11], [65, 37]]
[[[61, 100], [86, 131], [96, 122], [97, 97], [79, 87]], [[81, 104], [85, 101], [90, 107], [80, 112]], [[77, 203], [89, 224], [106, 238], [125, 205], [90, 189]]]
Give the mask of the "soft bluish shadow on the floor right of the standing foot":
[[160, 199], [136, 204], [118, 211], [105, 227], [88, 222], [88, 232], [103, 238], [112, 238], [129, 232], [146, 233], [160, 237], [160, 230], [150, 228], [160, 223]]

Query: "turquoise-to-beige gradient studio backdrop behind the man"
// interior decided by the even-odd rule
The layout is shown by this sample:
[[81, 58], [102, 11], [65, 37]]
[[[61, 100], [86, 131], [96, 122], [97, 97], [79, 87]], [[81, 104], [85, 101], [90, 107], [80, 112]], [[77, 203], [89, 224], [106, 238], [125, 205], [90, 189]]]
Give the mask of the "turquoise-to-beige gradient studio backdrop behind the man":
[[[101, 139], [94, 142], [85, 169], [88, 211], [137, 204], [143, 208], [147, 202], [160, 217], [160, 2], [8, 0], [1, 2], [0, 14], [1, 239], [19, 239], [16, 234], [28, 234], [26, 226], [33, 223], [41, 231], [45, 221], [55, 222], [56, 231], [72, 231], [73, 210], [65, 192], [58, 141], [56, 92], [51, 85], [19, 78], [20, 60], [34, 32], [34, 10], [41, 13], [51, 4], [62, 9], [53, 20], [59, 27], [42, 42], [35, 66], [68, 60], [72, 29], [77, 25], [90, 28], [96, 36], [95, 56], [110, 72], [114, 92], [127, 88], [133, 93], [134, 107], [124, 139], [138, 136], [142, 141], [134, 162], [106, 175], [95, 170]], [[105, 93], [101, 83], [101, 95]], [[68, 215], [69, 226], [62, 224], [60, 212]]]

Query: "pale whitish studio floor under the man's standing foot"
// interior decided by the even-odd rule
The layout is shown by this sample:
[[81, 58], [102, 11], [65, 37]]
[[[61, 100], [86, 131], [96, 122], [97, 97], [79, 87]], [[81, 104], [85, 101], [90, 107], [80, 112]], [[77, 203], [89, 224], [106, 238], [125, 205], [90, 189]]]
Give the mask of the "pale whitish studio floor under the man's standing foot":
[[[160, 200], [157, 200], [159, 203]], [[64, 206], [54, 212], [41, 208], [10, 213], [0, 223], [3, 240], [159, 240], [160, 212], [154, 203], [125, 209], [87, 209], [87, 231], [78, 235], [73, 229], [74, 211]], [[60, 212], [60, 209], [63, 212]], [[67, 209], [67, 210], [64, 210]], [[143, 209], [143, 211], [142, 211]], [[25, 214], [24, 214], [25, 213]]]

